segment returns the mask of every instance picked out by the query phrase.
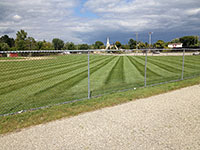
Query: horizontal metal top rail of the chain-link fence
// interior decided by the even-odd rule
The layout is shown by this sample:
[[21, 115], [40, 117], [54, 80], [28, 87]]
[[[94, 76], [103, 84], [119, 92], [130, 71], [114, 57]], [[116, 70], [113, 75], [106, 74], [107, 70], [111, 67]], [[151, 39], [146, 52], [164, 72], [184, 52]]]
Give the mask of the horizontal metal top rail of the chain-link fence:
[[17, 50], [17, 51], [0, 51], [1, 54], [8, 53], [70, 53], [70, 52], [134, 52], [134, 51], [200, 51], [200, 49], [120, 49], [120, 50], [106, 50], [106, 49], [89, 49], [89, 50]]

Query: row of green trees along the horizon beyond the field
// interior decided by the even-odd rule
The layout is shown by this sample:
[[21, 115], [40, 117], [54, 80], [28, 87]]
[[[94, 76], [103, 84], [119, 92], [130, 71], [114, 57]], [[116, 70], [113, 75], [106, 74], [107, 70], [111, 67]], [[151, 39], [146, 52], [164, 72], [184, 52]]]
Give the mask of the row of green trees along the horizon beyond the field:
[[[169, 43], [183, 43], [183, 47], [199, 48], [200, 41], [198, 36], [184, 36], [173, 39], [170, 42], [158, 40], [156, 43], [149, 45], [147, 42], [136, 41], [130, 39], [127, 44], [121, 44], [116, 41], [115, 44], [119, 49], [146, 49], [146, 48], [161, 48], [167, 49]], [[36, 41], [33, 37], [28, 37], [27, 32], [20, 30], [16, 33], [16, 39], [10, 38], [8, 35], [0, 37], [0, 51], [15, 51], [15, 50], [87, 50], [87, 49], [105, 49], [106, 46], [101, 41], [96, 41], [92, 45], [74, 44], [73, 42], [64, 43], [59, 38], [54, 38], [52, 42]]]

